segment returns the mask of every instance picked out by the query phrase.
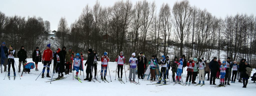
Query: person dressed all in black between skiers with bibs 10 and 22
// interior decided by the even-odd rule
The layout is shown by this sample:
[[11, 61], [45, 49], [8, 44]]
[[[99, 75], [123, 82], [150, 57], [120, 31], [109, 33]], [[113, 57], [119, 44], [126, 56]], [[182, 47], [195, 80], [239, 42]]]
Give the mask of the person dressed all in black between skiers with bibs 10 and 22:
[[[82, 55], [82, 54], [81, 54]], [[92, 81], [92, 65], [93, 65], [93, 62], [94, 62], [94, 54], [92, 52], [92, 49], [89, 49], [88, 50], [88, 59], [85, 63], [85, 66], [86, 66], [86, 78], [84, 80], [89, 80], [89, 81]], [[90, 75], [90, 78], [89, 78], [89, 75]]]

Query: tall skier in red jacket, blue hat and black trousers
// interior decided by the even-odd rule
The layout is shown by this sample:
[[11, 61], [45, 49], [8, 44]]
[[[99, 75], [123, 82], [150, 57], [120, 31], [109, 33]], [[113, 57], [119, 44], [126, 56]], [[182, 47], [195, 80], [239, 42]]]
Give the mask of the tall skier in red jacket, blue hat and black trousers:
[[43, 68], [42, 78], [44, 78], [44, 70], [46, 68], [46, 65], [47, 65], [46, 77], [50, 77], [50, 75], [49, 75], [50, 65], [52, 64], [51, 63], [51, 60], [52, 60], [52, 50], [50, 48], [51, 48], [51, 44], [48, 44], [46, 46], [46, 50], [44, 50], [44, 53], [43, 53], [43, 58], [42, 58], [43, 62], [42, 63], [44, 64], [44, 68]]

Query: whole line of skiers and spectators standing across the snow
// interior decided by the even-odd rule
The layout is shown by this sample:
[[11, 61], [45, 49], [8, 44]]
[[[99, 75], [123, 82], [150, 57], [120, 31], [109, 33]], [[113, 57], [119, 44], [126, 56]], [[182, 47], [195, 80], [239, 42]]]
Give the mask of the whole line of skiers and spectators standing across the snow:
[[[16, 52], [13, 49], [12, 45], [9, 45], [9, 48], [6, 47], [5, 42], [2, 43], [0, 48], [0, 59], [1, 65], [4, 65], [4, 72], [7, 71], [8, 65], [8, 76], [10, 76], [10, 68], [12, 66], [13, 74], [16, 76], [15, 72], [15, 61], [14, 57], [16, 56], [19, 58], [19, 69], [20, 72], [21, 65], [27, 63], [27, 51], [25, 51], [25, 47], [21, 46], [20, 50]], [[252, 67], [249, 65], [249, 62], [246, 59], [242, 58], [240, 61], [231, 61], [230, 57], [227, 57], [226, 60], [222, 61], [220, 59], [217, 60], [216, 57], [213, 57], [211, 61], [204, 60], [204, 58], [189, 58], [188, 61], [186, 60], [186, 56], [182, 55], [182, 57], [174, 57], [173, 60], [169, 59], [169, 56], [162, 56], [161, 60], [158, 60], [157, 56], [153, 55], [150, 59], [145, 57], [143, 52], [140, 52], [136, 56], [136, 53], [132, 53], [131, 58], [129, 58], [129, 65], [130, 65], [130, 73], [129, 73], [129, 80], [135, 82], [136, 79], [136, 69], [138, 73], [138, 79], [144, 79], [144, 74], [146, 70], [150, 70], [150, 80], [156, 81], [156, 76], [158, 77], [158, 82], [161, 83], [162, 81], [166, 84], [166, 79], [169, 79], [169, 70], [172, 72], [172, 81], [175, 83], [180, 83], [182, 81], [182, 73], [186, 72], [186, 81], [185, 84], [196, 84], [196, 77], [198, 77], [199, 82], [198, 84], [204, 85], [205, 82], [205, 75], [207, 74], [208, 78], [207, 81], [210, 81], [210, 85], [216, 85], [215, 79], [220, 79], [219, 86], [230, 85], [231, 83], [236, 82], [236, 78], [238, 78], [238, 82], [243, 83], [243, 87], [246, 88], [248, 84], [248, 79], [251, 76]], [[103, 56], [98, 56], [96, 50], [89, 49], [88, 50], [88, 58], [85, 63], [86, 66], [86, 78], [84, 80], [91, 81], [93, 78], [93, 69], [94, 69], [94, 79], [97, 75], [97, 61], [100, 59], [101, 61], [101, 71], [100, 76], [101, 79], [106, 80], [107, 69], [108, 69], [108, 62], [110, 59], [108, 58], [108, 53], [104, 52]], [[39, 71], [38, 69], [38, 62], [42, 62], [44, 65], [42, 69], [42, 78], [44, 78], [44, 73], [46, 69], [46, 77], [51, 77], [49, 75], [50, 65], [53, 60], [53, 73], [58, 73], [58, 78], [69, 74], [72, 71], [76, 71], [75, 78], [78, 78], [77, 75], [80, 71], [84, 71], [83, 68], [83, 54], [76, 53], [72, 51], [72, 48], [68, 48], [66, 51], [66, 47], [63, 46], [62, 50], [57, 48], [55, 51], [51, 50], [51, 44], [46, 45], [46, 49], [43, 51], [43, 56], [41, 56], [41, 51], [39, 47], [32, 53], [32, 60], [35, 62], [35, 71]], [[120, 55], [116, 57], [117, 65], [116, 70], [118, 74], [118, 80], [122, 80], [123, 78], [123, 68], [125, 64], [125, 57], [124, 52], [121, 51]], [[149, 69], [147, 69], [149, 66]], [[161, 67], [161, 69], [159, 69]], [[187, 70], [185, 71], [185, 67]], [[183, 70], [184, 69], [184, 70]], [[160, 71], [158, 73], [157, 71]], [[23, 70], [23, 72], [30, 72], [30, 70]], [[120, 74], [121, 72], [121, 74]], [[176, 76], [175, 76], [176, 75]], [[232, 75], [232, 77], [231, 77]], [[238, 75], [238, 76], [237, 76]]]

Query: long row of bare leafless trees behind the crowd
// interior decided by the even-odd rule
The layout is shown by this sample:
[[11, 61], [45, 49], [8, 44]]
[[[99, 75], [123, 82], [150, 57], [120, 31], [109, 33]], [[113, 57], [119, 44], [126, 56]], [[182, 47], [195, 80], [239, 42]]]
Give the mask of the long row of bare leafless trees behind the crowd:
[[[254, 15], [237, 13], [235, 16], [216, 17], [206, 9], [191, 6], [188, 0], [177, 1], [172, 7], [163, 3], [160, 10], [156, 10], [156, 7], [155, 2], [147, 0], [135, 4], [129, 0], [116, 1], [109, 7], [102, 7], [99, 1], [92, 7], [87, 4], [70, 26], [66, 18], [61, 17], [56, 46], [72, 47], [76, 52], [87, 52], [92, 48], [100, 55], [107, 51], [111, 60], [120, 51], [124, 51], [127, 57], [133, 52], [137, 55], [142, 51], [147, 58], [151, 55], [173, 58], [185, 54], [187, 57], [206, 59], [213, 56], [222, 59], [231, 57], [232, 60], [245, 58], [252, 64], [256, 63]], [[25, 20], [25, 17], [2, 15], [0, 32], [4, 35], [1, 41], [7, 42], [3, 37], [8, 35], [17, 37], [9, 39], [11, 44], [29, 43], [34, 47], [40, 44], [31, 42], [41, 40], [38, 33], [50, 31], [50, 22], [40, 17]], [[21, 38], [28, 37], [26, 32], [32, 32], [29, 37], [33, 35], [35, 38], [22, 41]], [[175, 42], [174, 46], [170, 46], [171, 41]]]

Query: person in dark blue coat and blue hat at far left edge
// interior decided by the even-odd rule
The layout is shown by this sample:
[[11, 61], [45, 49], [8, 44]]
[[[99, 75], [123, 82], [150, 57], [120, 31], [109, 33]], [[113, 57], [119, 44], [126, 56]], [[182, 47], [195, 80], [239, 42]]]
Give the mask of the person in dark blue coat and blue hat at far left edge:
[[7, 64], [8, 64], [8, 48], [5, 46], [5, 42], [2, 43], [0, 47], [0, 59], [1, 59], [1, 66], [4, 65], [4, 72], [6, 72]]

